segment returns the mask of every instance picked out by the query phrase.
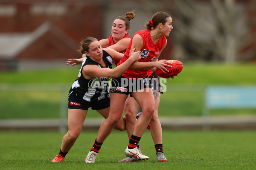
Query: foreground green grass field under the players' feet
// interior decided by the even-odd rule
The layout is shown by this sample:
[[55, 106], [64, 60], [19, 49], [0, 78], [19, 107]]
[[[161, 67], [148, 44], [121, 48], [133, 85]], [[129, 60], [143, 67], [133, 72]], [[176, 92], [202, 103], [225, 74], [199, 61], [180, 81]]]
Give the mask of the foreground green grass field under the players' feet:
[[0, 132], [1, 170], [255, 170], [255, 131], [163, 131], [167, 162], [157, 162], [149, 130], [140, 141], [148, 161], [117, 162], [128, 144], [125, 131], [114, 130], [94, 164], [84, 163], [96, 131], [83, 131], [61, 163], [51, 160], [64, 134], [57, 132]]

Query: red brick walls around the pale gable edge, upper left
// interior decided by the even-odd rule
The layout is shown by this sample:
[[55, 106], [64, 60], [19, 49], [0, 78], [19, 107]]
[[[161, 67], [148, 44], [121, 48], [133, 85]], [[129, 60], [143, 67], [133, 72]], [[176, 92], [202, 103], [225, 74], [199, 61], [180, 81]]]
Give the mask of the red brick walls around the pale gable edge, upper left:
[[[18, 54], [16, 56], [18, 59], [67, 59], [77, 57], [76, 50], [79, 48], [79, 42], [82, 39], [86, 37], [102, 39], [103, 22], [101, 6], [64, 4], [65, 13], [49, 15], [33, 13], [32, 7], [38, 6], [35, 2], [37, 1], [1, 3], [0, 5], [2, 6], [12, 5], [17, 9], [15, 15], [0, 16], [1, 33], [32, 33], [43, 23], [49, 22], [53, 27], [61, 31], [61, 34], [66, 37], [66, 41], [70, 40], [70, 42], [62, 42], [60, 37], [48, 31]], [[61, 2], [56, 1], [55, 4], [61, 4]], [[74, 44], [76, 45], [75, 49]]]

